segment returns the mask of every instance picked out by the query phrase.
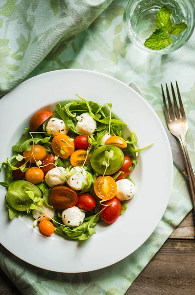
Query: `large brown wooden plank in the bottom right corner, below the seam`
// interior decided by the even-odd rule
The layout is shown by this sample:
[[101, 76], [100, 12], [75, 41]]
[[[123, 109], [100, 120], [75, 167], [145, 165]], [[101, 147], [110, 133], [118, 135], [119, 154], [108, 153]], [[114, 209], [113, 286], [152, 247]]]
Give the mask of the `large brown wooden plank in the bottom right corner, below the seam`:
[[195, 295], [195, 240], [169, 239], [126, 295]]

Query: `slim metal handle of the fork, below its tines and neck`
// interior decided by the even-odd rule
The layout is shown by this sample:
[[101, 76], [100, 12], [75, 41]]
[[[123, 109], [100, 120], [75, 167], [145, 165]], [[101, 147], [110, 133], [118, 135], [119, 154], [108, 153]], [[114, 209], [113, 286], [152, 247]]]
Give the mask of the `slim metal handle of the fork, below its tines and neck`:
[[[190, 189], [191, 189], [191, 195], [192, 195], [192, 203], [193, 203], [193, 207], [195, 209], [195, 175], [194, 175], [193, 167], [192, 167], [190, 157], [188, 154], [188, 150], [186, 147], [185, 136], [179, 137], [178, 139], [181, 144], [181, 148], [182, 148], [183, 155], [184, 155], [184, 160], [186, 163], [186, 168], [187, 168], [187, 173], [188, 173], [188, 178], [189, 178], [189, 183], [190, 183]], [[195, 211], [194, 211], [194, 213], [195, 213]], [[194, 214], [194, 220], [195, 220], [195, 214]]]

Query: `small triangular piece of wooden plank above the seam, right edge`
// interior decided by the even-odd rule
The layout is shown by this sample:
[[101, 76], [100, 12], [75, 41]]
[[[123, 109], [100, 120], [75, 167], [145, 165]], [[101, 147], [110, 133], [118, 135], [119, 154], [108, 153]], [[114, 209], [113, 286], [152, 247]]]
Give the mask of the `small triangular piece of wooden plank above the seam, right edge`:
[[184, 218], [179, 226], [173, 231], [170, 238], [195, 238], [195, 226], [192, 212], [190, 212], [186, 218]]

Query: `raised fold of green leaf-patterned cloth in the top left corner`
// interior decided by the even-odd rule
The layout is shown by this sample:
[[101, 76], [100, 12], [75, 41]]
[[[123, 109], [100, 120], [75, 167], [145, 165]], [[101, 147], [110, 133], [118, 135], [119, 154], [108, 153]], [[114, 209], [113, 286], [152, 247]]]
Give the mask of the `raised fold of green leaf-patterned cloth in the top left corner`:
[[49, 54], [58, 55], [112, 0], [2, 0], [0, 95], [21, 83]]

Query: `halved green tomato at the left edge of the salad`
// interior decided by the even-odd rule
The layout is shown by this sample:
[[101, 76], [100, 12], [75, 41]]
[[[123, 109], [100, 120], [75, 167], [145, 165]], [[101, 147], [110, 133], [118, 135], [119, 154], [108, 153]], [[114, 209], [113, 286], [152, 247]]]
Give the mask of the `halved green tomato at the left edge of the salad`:
[[18, 180], [12, 182], [8, 188], [7, 203], [16, 210], [26, 211], [33, 203], [26, 191], [32, 191], [34, 197], [41, 198], [41, 191], [36, 185], [25, 180]]

